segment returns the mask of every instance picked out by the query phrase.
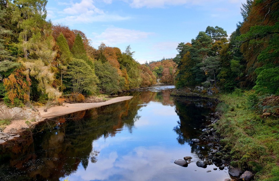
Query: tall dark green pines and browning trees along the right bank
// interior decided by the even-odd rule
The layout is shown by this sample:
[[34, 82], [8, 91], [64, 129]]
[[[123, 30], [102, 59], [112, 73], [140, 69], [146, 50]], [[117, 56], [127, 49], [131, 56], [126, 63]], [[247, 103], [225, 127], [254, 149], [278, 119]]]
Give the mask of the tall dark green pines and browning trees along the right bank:
[[228, 35], [208, 26], [191, 43], [180, 43], [175, 85], [178, 88], [254, 89], [279, 95], [279, 1], [247, 0], [243, 21]]

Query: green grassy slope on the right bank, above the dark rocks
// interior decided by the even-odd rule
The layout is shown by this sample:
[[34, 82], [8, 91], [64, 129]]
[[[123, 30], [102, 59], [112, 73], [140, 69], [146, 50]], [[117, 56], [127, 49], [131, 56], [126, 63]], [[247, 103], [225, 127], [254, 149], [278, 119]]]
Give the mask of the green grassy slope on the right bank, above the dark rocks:
[[263, 117], [253, 109], [247, 94], [221, 94], [217, 111], [222, 113], [214, 125], [223, 140], [224, 156], [231, 165], [255, 173], [255, 180], [279, 180], [279, 118]]

